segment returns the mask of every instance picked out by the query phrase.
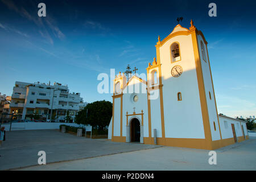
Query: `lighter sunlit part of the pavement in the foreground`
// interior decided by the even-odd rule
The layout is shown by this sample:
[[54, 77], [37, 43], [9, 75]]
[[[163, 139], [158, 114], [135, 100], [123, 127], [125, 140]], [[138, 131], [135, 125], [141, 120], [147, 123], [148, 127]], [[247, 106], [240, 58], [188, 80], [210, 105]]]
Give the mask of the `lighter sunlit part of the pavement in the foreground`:
[[20, 170], [256, 170], [256, 138], [215, 150], [217, 164], [210, 165], [207, 150], [160, 147], [96, 158], [52, 163]]

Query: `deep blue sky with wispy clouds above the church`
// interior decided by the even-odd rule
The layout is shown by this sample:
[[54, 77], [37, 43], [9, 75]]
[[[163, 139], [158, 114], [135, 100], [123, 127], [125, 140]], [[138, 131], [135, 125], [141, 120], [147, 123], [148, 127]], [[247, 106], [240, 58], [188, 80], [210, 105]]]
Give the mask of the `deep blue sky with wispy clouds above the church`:
[[[38, 3], [47, 16], [38, 17]], [[217, 5], [217, 17], [208, 5]], [[183, 16], [208, 42], [218, 113], [256, 115], [255, 1], [14, 1], [0, 0], [0, 92], [15, 81], [60, 82], [86, 102], [112, 101], [97, 93], [97, 76], [146, 73], [163, 39]]]

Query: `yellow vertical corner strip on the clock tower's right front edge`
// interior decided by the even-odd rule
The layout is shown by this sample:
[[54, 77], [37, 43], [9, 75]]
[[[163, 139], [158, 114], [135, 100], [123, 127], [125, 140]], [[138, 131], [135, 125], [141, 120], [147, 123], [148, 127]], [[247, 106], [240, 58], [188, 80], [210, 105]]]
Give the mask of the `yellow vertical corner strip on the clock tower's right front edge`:
[[208, 107], [207, 107], [207, 99], [205, 96], [204, 78], [203, 78], [203, 71], [202, 71], [201, 61], [200, 61], [199, 47], [197, 43], [196, 28], [192, 29], [191, 31], [192, 31], [191, 36], [192, 36], [192, 43], [193, 43], [193, 51], [194, 51], [195, 63], [196, 63], [197, 83], [199, 86], [201, 113], [202, 113], [203, 124], [204, 124], [204, 135], [206, 140], [205, 148], [211, 148], [212, 134], [210, 132], [209, 113], [208, 113]]

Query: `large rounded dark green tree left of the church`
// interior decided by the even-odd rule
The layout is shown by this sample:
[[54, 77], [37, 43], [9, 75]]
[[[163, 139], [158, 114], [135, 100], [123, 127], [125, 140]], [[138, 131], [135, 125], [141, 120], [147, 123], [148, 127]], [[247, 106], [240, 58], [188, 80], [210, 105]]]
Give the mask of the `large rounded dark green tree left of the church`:
[[112, 109], [113, 105], [109, 101], [104, 100], [89, 103], [77, 113], [75, 122], [104, 130], [104, 127], [109, 125], [112, 118]]

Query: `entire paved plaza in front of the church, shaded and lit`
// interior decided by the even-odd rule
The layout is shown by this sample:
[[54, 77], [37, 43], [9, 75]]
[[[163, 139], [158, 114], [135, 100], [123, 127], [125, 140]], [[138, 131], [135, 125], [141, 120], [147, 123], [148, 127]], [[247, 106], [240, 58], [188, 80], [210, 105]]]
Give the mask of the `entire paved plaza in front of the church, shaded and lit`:
[[[38, 165], [38, 151], [46, 151], [46, 165]], [[255, 170], [256, 138], [215, 150], [118, 143], [76, 137], [58, 130], [7, 132], [0, 148], [0, 169], [17, 170]]]

